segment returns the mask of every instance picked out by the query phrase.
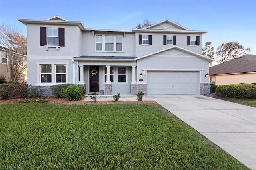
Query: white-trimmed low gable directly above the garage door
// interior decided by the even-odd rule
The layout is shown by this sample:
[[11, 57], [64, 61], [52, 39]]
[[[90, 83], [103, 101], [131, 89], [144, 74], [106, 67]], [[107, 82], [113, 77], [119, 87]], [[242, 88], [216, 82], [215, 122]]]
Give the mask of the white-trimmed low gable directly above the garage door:
[[196, 56], [196, 57], [200, 57], [202, 59], [205, 59], [209, 62], [214, 61], [214, 59], [208, 58], [204, 55], [200, 55], [198, 53], [195, 53], [193, 51], [189, 51], [187, 49], [184, 49], [184, 48], [178, 47], [178, 46], [172, 46], [172, 47], [169, 47], [169, 48], [166, 48], [166, 49], [162, 49], [162, 50], [156, 51], [154, 53], [150, 53], [150, 54], [147, 54], [147, 55], [144, 55], [144, 56], [141, 56], [141, 57], [137, 57], [134, 60], [139, 60], [139, 59], [149, 57], [149, 56], [152, 56], [152, 55], [161, 55], [161, 56], [166, 55], [166, 56], [175, 56], [175, 57], [179, 57], [179, 56], [195, 57]]

